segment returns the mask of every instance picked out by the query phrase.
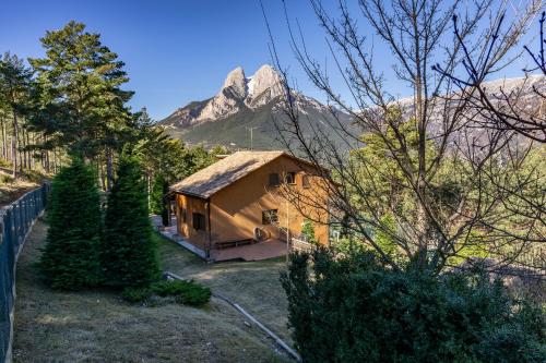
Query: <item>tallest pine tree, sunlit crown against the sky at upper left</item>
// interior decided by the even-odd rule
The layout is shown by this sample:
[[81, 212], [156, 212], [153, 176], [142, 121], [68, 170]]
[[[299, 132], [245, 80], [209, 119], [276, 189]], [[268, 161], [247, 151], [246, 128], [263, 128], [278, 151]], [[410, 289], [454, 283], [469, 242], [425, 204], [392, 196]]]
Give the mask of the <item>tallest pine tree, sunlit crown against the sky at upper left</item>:
[[99, 34], [74, 21], [47, 32], [40, 43], [46, 56], [28, 60], [43, 106], [33, 128], [55, 135], [45, 148], [68, 147], [85, 159], [104, 160], [108, 189], [114, 157], [131, 137], [133, 123], [127, 107], [133, 93], [122, 89], [129, 82], [124, 63]]

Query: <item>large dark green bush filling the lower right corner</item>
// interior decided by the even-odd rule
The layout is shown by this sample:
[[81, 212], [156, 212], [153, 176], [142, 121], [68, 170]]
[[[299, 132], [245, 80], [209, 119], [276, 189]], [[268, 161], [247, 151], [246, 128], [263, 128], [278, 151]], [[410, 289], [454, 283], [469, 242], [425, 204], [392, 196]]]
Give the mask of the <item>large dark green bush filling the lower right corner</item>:
[[[312, 274], [311, 274], [312, 273]], [[281, 277], [304, 362], [544, 362], [544, 313], [480, 271], [294, 254]], [[335, 339], [332, 339], [335, 337]]]

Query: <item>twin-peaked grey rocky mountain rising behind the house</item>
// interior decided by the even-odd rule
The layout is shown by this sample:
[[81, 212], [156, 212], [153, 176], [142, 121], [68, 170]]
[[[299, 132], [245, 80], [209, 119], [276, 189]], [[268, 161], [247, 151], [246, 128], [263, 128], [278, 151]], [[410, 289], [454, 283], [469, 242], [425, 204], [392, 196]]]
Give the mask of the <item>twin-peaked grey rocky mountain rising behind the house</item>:
[[[167, 132], [188, 143], [250, 147], [250, 129], [254, 148], [281, 146], [275, 119], [284, 117], [280, 101], [284, 89], [281, 77], [271, 65], [262, 65], [246, 76], [238, 66], [227, 75], [219, 92], [212, 98], [194, 101], [175, 110], [159, 121]], [[302, 113], [310, 120], [332, 118], [331, 110], [311, 97], [296, 95]], [[349, 117], [339, 113], [349, 122]], [[320, 121], [319, 121], [320, 122]]]

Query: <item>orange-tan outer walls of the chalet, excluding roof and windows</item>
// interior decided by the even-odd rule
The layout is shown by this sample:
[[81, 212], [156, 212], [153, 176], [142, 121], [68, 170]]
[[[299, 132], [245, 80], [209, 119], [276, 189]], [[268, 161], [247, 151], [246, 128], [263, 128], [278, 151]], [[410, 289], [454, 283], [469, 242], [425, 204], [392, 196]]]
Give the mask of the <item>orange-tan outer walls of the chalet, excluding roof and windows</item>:
[[[307, 171], [304, 170], [306, 168]], [[266, 230], [274, 239], [285, 240], [286, 233], [278, 227], [286, 228], [288, 225], [293, 233], [299, 234], [305, 217], [298, 211], [298, 208], [280, 195], [278, 191], [282, 187], [270, 189], [269, 186], [270, 173], [276, 172], [282, 176], [289, 171], [297, 172], [296, 184], [283, 185], [282, 187], [288, 187], [301, 195], [310, 194], [313, 197], [321, 193], [316, 187], [318, 177], [310, 177], [311, 187], [302, 187], [302, 176], [306, 173], [311, 176], [312, 169], [310, 167], [298, 165], [290, 157], [281, 156], [214, 194], [210, 199], [210, 225], [206, 210], [207, 201], [177, 194], [176, 213], [179, 234], [203, 250], [207, 246], [209, 232], [195, 231], [192, 227], [194, 211], [205, 216], [206, 228], [211, 228], [212, 243], [251, 239], [256, 227]], [[322, 199], [321, 204], [325, 206], [327, 196], [323, 196]], [[277, 209], [277, 226], [262, 225], [262, 210], [268, 209]], [[181, 216], [182, 210], [186, 210], [187, 214], [186, 221]], [[328, 214], [324, 210], [311, 208], [307, 213], [311, 213], [316, 219], [328, 221]], [[314, 223], [314, 234], [320, 243], [328, 244], [329, 230], [325, 223]]]

